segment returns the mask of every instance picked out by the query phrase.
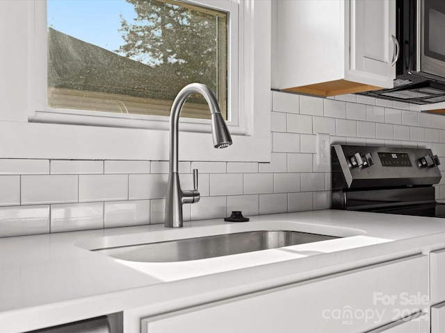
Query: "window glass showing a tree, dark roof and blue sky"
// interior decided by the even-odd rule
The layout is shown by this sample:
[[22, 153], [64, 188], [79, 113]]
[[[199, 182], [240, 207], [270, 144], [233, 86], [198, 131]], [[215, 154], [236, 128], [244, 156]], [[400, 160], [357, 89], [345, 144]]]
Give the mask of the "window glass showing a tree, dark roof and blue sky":
[[[48, 107], [169, 116], [188, 83], [227, 119], [228, 13], [174, 0], [48, 0]], [[210, 119], [191, 96], [181, 117]]]

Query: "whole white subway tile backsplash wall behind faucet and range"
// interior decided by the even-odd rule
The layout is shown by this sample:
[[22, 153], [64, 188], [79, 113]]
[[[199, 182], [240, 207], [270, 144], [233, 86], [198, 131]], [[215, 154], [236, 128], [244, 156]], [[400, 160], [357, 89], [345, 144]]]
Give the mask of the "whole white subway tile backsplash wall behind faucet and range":
[[[202, 198], [184, 205], [185, 220], [329, 208], [330, 172], [317, 171], [316, 133], [330, 134], [332, 144], [432, 148], [445, 171], [444, 116], [359, 95], [271, 94], [271, 162], [180, 162], [184, 189], [200, 170]], [[0, 158], [0, 236], [163, 223], [167, 177], [167, 161]]]

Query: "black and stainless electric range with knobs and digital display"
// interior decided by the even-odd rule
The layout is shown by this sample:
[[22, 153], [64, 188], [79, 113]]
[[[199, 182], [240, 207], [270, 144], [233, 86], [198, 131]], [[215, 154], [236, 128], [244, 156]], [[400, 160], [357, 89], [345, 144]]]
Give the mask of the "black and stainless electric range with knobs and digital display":
[[332, 208], [445, 217], [439, 164], [428, 148], [332, 146]]

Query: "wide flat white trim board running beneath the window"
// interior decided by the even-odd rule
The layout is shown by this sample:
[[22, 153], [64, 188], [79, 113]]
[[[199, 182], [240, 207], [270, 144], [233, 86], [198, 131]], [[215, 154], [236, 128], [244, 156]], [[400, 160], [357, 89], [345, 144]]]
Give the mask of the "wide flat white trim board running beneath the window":
[[[0, 121], [3, 158], [168, 160], [168, 130]], [[270, 133], [233, 135], [229, 148], [213, 148], [210, 133], [179, 133], [179, 160], [269, 162]], [[246, 154], [246, 152], [249, 152]]]

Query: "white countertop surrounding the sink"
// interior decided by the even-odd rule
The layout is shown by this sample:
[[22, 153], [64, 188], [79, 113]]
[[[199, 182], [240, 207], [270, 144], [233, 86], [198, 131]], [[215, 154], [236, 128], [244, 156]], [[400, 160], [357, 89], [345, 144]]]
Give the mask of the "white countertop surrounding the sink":
[[[343, 238], [169, 263], [127, 262], [88, 250], [254, 229]], [[445, 248], [445, 219], [339, 210], [253, 216], [247, 223], [194, 221], [178, 229], [146, 225], [3, 238], [1, 332], [137, 307], [161, 313], [439, 248]]]

